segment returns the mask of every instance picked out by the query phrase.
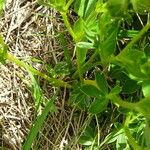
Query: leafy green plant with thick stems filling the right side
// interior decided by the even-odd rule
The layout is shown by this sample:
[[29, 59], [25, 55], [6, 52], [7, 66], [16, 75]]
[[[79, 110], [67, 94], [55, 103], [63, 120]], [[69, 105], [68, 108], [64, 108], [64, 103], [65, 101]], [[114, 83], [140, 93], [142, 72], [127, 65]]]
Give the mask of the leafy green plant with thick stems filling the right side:
[[[112, 144], [114, 149], [131, 147], [138, 150], [149, 149], [150, 54], [147, 41], [149, 41], [150, 21], [147, 19], [145, 26], [138, 29], [139, 31], [125, 29], [128, 23], [132, 24], [135, 13], [147, 17], [148, 1], [39, 0], [38, 3], [56, 9], [60, 13], [74, 43], [76, 66], [72, 67], [74, 64], [71, 61], [71, 52], [65, 46], [63, 34], [60, 35], [60, 43], [64, 48], [65, 59], [60, 65], [50, 67], [49, 74], [52, 77], [7, 53], [7, 46], [2, 38], [1, 61], [4, 62], [5, 59], [12, 61], [34, 75], [48, 80], [53, 86], [69, 89], [69, 103], [75, 105], [76, 109], [86, 111], [92, 116], [91, 120], [97, 123], [95, 125], [89, 121], [84, 130], [75, 135], [76, 142], [85, 149], [102, 149], [106, 144]], [[70, 7], [77, 15], [73, 23], [69, 22], [67, 15]], [[130, 42], [120, 44], [124, 38], [128, 38]], [[62, 65], [66, 66], [63, 68]], [[87, 73], [90, 75], [86, 75]], [[71, 84], [56, 79], [59, 75], [63, 79], [69, 76]], [[100, 138], [98, 118], [108, 110], [110, 115], [112, 113], [110, 105], [114, 104], [117, 109], [120, 107], [124, 109], [123, 112], [119, 110], [118, 112], [126, 119], [123, 118], [122, 123], [114, 121], [111, 133], [105, 138]], [[136, 125], [139, 125], [140, 129], [136, 128]], [[97, 129], [94, 129], [96, 127]], [[31, 130], [30, 135], [33, 132], [34, 129]], [[29, 139], [27, 141], [30, 141], [31, 145], [33, 139]], [[72, 147], [72, 144], [69, 146]]]

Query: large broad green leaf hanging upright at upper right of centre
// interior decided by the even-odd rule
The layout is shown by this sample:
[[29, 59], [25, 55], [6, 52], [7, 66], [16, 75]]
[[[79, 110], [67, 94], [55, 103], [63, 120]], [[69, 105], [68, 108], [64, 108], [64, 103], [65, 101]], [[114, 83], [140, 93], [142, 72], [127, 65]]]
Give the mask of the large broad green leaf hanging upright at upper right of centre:
[[112, 20], [109, 12], [101, 15], [99, 18], [99, 33], [101, 42], [99, 53], [102, 61], [108, 61], [110, 55], [115, 52], [118, 29], [118, 21]]

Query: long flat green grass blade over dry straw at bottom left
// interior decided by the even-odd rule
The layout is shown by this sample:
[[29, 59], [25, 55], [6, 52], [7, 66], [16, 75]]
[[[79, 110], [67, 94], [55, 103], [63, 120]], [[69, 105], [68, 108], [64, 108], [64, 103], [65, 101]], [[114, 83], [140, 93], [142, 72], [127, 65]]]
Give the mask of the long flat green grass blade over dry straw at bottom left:
[[38, 132], [40, 131], [47, 115], [49, 114], [49, 112], [56, 111], [55, 105], [53, 104], [55, 99], [56, 99], [56, 97], [54, 96], [50, 101], [48, 101], [44, 110], [42, 111], [42, 114], [37, 117], [36, 121], [32, 125], [32, 128], [30, 129], [30, 132], [27, 136], [25, 143], [23, 144], [22, 150], [31, 149], [32, 143], [35, 140]]

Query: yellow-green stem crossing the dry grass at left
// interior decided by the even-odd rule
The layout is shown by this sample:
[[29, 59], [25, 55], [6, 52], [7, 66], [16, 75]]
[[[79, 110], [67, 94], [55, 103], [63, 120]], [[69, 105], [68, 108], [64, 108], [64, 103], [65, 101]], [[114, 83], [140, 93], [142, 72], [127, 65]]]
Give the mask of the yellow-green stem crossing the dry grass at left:
[[71, 85], [69, 85], [68, 83], [66, 83], [66, 82], [64, 82], [62, 80], [59, 80], [59, 79], [50, 78], [46, 74], [44, 74], [44, 73], [42, 73], [42, 72], [34, 69], [32, 66], [29, 66], [26, 63], [24, 63], [23, 61], [20, 61], [19, 59], [17, 59], [16, 57], [14, 57], [13, 55], [11, 55], [10, 53], [7, 53], [6, 59], [8, 59], [9, 61], [15, 63], [19, 67], [25, 68], [26, 70], [31, 71], [35, 75], [38, 75], [38, 76], [44, 78], [45, 80], [47, 80], [52, 85], [59, 86], [59, 87], [71, 88]]

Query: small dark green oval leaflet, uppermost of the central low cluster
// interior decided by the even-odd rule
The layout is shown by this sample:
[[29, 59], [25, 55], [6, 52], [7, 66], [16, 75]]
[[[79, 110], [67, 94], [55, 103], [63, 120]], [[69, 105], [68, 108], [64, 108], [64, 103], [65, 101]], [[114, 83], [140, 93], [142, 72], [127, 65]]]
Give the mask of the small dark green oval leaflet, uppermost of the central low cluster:
[[104, 77], [104, 74], [100, 72], [96, 72], [95, 74], [96, 83], [99, 87], [99, 89], [102, 91], [102, 93], [107, 94], [108, 93], [108, 84], [107, 80]]

